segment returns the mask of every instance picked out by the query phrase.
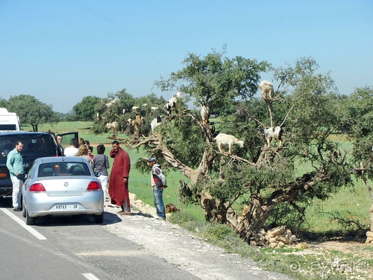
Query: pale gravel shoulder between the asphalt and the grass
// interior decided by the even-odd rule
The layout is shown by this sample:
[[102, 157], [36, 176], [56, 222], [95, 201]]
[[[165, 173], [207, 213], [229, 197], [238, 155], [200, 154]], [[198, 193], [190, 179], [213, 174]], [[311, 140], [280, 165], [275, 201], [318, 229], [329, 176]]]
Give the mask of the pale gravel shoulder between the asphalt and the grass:
[[[106, 215], [105, 228], [118, 237], [140, 245], [167, 263], [176, 266], [203, 280], [287, 280], [289, 276], [266, 272], [254, 261], [238, 254], [224, 252], [201, 238], [195, 237], [176, 224], [159, 220], [155, 208], [130, 196], [134, 209], [131, 216]], [[109, 204], [110, 205], [110, 204]], [[105, 212], [117, 214], [119, 207], [106, 207]]]

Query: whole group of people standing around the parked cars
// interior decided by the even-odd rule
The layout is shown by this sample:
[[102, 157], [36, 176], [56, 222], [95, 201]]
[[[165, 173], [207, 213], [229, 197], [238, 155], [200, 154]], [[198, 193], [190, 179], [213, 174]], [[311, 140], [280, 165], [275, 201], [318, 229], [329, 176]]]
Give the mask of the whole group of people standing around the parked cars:
[[[56, 139], [62, 148], [62, 136], [56, 135]], [[111, 198], [111, 204], [121, 207], [118, 212], [119, 215], [131, 215], [130, 196], [128, 190], [128, 179], [130, 176], [131, 161], [129, 154], [120, 147], [118, 141], [112, 142], [112, 149], [110, 150], [110, 157], [114, 159], [111, 168], [110, 177], [108, 176], [109, 160], [105, 153], [105, 145], [99, 144], [97, 146], [97, 155], [93, 156], [93, 147], [90, 146], [89, 141], [83, 139], [73, 138], [70, 140], [70, 145], [62, 148], [64, 156], [81, 156], [87, 159], [94, 171], [100, 172], [99, 180], [101, 181], [102, 189], [104, 192], [104, 207], [106, 207], [106, 191], [107, 184], [110, 182], [108, 190]], [[13, 210], [22, 211], [21, 209], [21, 192], [23, 181], [17, 179], [18, 174], [25, 173], [23, 167], [23, 159], [21, 151], [23, 149], [23, 142], [17, 141], [14, 150], [9, 152], [6, 162], [6, 167], [9, 169], [10, 178], [13, 184]], [[167, 188], [167, 181], [160, 168], [156, 163], [155, 157], [148, 159], [148, 166], [151, 168], [150, 183], [153, 189], [154, 205], [160, 219], [166, 219], [166, 212], [163, 203], [163, 190]]]

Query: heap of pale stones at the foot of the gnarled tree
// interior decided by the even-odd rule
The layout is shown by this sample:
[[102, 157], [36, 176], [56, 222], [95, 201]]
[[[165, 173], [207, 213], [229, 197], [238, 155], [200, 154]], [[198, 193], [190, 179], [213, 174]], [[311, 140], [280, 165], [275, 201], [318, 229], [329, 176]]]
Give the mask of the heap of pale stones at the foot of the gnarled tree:
[[305, 242], [298, 243], [296, 236], [286, 228], [286, 225], [280, 225], [266, 231], [264, 228], [255, 229], [250, 237], [251, 246], [261, 246], [264, 248], [296, 247], [306, 249]]

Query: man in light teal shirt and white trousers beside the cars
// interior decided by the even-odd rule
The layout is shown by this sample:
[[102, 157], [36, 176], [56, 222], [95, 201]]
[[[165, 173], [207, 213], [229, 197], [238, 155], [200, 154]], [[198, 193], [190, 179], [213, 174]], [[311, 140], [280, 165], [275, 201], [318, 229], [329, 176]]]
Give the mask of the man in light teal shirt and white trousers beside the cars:
[[21, 194], [23, 181], [17, 179], [17, 175], [24, 174], [23, 158], [21, 151], [23, 149], [23, 142], [17, 141], [14, 150], [10, 151], [6, 159], [6, 167], [9, 169], [10, 179], [13, 185], [13, 210], [22, 211], [21, 209]]

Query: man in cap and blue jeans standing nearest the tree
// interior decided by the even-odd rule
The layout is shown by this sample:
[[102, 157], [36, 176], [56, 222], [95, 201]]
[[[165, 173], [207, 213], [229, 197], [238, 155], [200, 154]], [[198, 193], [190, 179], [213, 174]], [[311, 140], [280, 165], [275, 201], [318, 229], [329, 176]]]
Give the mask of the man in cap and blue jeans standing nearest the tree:
[[166, 212], [164, 210], [162, 196], [163, 189], [167, 188], [166, 177], [164, 177], [162, 169], [160, 169], [160, 165], [156, 164], [156, 158], [150, 157], [148, 159], [148, 166], [152, 168], [152, 172], [150, 172], [150, 182], [153, 188], [154, 206], [156, 206], [158, 217], [160, 217], [160, 219], [165, 220]]

